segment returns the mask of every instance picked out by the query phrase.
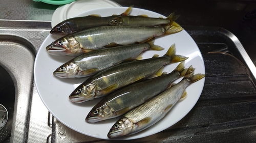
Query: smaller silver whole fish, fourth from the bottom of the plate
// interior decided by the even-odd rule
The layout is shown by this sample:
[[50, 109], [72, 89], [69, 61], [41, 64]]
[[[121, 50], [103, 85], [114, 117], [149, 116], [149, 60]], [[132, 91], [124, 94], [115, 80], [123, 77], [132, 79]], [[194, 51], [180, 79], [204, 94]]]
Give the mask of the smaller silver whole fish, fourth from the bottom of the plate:
[[59, 78], [90, 76], [127, 59], [135, 59], [139, 54], [148, 49], [163, 49], [153, 43], [154, 41], [150, 41], [148, 43], [103, 48], [83, 53], [58, 67], [53, 74]]

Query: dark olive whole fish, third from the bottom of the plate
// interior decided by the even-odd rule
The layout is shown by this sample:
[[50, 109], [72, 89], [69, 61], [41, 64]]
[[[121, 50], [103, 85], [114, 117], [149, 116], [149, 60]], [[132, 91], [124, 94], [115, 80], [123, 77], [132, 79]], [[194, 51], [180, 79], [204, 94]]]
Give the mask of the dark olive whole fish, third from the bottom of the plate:
[[96, 73], [80, 84], [69, 96], [71, 102], [81, 103], [109, 94], [125, 85], [154, 74], [162, 66], [184, 61], [187, 58], [176, 55], [172, 45], [167, 53], [159, 58], [121, 63]]

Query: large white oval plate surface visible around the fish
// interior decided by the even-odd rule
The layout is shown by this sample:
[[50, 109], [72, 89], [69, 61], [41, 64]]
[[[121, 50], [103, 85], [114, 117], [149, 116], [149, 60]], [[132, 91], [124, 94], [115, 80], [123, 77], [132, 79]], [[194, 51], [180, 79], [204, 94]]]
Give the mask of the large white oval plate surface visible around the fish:
[[[110, 16], [113, 13], [122, 13], [126, 9], [127, 8], [124, 7], [95, 9], [84, 12], [78, 16], [86, 16], [90, 14]], [[162, 16], [152, 11], [133, 8], [132, 15], [141, 14], [147, 14], [150, 17]], [[97, 102], [101, 100], [101, 98], [83, 103], [72, 103], [69, 101], [68, 97], [71, 92], [87, 78], [60, 79], [52, 74], [56, 68], [73, 58], [71, 56], [53, 56], [47, 53], [46, 46], [48, 46], [58, 37], [59, 36], [49, 35], [42, 43], [36, 55], [34, 78], [39, 96], [52, 115], [69, 128], [89, 136], [109, 139], [107, 137], [108, 131], [118, 120], [118, 118], [95, 124], [89, 124], [84, 121], [88, 112]], [[201, 52], [195, 41], [187, 34], [185, 30], [177, 34], [157, 38], [155, 40], [155, 44], [160, 45], [165, 49], [162, 51], [146, 51], [143, 53], [142, 57], [143, 59], [147, 59], [151, 58], [154, 54], [159, 54], [161, 56], [165, 54], [168, 48], [174, 43], [176, 44], [177, 54], [189, 57], [186, 60], [186, 67], [193, 65], [194, 68], [196, 68], [195, 73], [204, 74], [205, 69]], [[165, 66], [164, 71], [168, 73], [172, 72], [177, 65], [178, 63]], [[204, 78], [191, 84], [186, 89], [187, 97], [184, 100], [179, 101], [162, 120], [140, 133], [119, 139], [135, 139], [145, 137], [174, 125], [194, 107], [201, 95], [203, 86]]]

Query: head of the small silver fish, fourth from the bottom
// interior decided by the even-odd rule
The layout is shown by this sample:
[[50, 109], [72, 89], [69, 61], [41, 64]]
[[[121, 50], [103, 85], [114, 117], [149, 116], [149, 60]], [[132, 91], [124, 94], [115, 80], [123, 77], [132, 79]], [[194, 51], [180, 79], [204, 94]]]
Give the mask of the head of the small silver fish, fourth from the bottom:
[[73, 78], [77, 75], [79, 67], [74, 62], [68, 62], [58, 67], [53, 75], [59, 78]]

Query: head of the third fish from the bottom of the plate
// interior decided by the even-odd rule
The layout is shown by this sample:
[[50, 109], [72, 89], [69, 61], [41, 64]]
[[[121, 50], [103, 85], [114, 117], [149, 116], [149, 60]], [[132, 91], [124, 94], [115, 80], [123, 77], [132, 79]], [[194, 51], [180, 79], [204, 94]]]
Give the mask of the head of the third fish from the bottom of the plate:
[[93, 100], [96, 95], [96, 85], [87, 83], [80, 84], [69, 96], [71, 102], [81, 103], [88, 100]]

